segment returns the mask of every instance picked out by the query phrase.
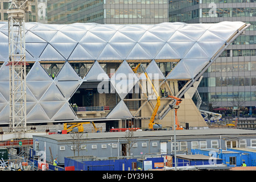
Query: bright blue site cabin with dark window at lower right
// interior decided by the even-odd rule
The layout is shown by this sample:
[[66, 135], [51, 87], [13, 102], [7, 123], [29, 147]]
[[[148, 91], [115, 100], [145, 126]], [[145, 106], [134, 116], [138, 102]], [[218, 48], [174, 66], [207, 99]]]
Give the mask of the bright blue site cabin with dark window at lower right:
[[222, 159], [222, 163], [230, 167], [242, 166], [240, 152], [228, 151], [216, 148], [192, 149], [192, 154], [203, 154], [213, 158]]

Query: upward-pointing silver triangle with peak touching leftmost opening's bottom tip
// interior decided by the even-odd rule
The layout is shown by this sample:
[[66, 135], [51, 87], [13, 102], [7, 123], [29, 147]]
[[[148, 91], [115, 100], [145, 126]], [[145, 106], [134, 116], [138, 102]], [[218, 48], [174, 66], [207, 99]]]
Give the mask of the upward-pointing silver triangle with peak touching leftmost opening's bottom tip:
[[40, 99], [40, 102], [49, 101], [65, 101], [63, 94], [60, 92], [54, 82], [52, 82], [51, 86], [49, 86], [48, 90]]

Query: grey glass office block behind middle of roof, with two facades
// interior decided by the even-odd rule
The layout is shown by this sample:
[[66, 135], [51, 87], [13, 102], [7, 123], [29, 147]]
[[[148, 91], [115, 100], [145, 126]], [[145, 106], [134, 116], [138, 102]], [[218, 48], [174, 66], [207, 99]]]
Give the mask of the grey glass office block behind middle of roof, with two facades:
[[48, 23], [147, 23], [168, 22], [167, 0], [50, 0]]

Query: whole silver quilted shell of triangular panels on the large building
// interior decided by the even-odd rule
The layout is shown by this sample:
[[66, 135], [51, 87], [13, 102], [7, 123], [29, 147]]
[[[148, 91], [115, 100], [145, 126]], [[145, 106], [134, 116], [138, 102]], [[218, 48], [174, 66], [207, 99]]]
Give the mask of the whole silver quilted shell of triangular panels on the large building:
[[[26, 23], [26, 61], [36, 61], [27, 75], [27, 121], [77, 119], [68, 101], [82, 82], [95, 80], [93, 71], [96, 71], [95, 74], [104, 74], [103, 70], [96, 69], [97, 60], [153, 60], [148, 65], [148, 72], [156, 70], [154, 60], [180, 60], [167, 77], [163, 78], [193, 80], [214, 61], [216, 55], [220, 55], [226, 46], [245, 30], [246, 26], [243, 22]], [[0, 123], [9, 121], [9, 69], [5, 67], [9, 61], [7, 36], [7, 22], [1, 22], [0, 61], [5, 63], [0, 68]], [[90, 69], [91, 73], [89, 71], [84, 78], [78, 76], [71, 65], [65, 62], [61, 71], [52, 80], [40, 65], [40, 61], [43, 60], [96, 62], [93, 69]], [[116, 84], [113, 81], [112, 83]], [[52, 96], [52, 93], [55, 93], [55, 96]], [[121, 100], [125, 97], [122, 94], [120, 96]], [[114, 111], [117, 108], [108, 118], [122, 118], [122, 115], [115, 115]], [[127, 115], [130, 115], [129, 110], [124, 117]]]

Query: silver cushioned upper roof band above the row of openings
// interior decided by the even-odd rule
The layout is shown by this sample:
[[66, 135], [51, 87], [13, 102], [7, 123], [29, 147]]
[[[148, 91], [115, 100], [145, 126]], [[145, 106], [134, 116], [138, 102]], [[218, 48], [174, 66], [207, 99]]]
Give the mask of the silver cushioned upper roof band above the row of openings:
[[[232, 37], [233, 34], [243, 26], [245, 26], [243, 22], [205, 24], [166, 22], [154, 25], [26, 23], [26, 42], [38, 44], [48, 43], [47, 47], [43, 49], [40, 55], [38, 55], [39, 53], [37, 51], [28, 50], [31, 56], [35, 57], [36, 60], [68, 61], [69, 58], [70, 60], [209, 59], [216, 54], [217, 48], [214, 49], [214, 51], [207, 51], [203, 47], [203, 49], [201, 49], [201, 44], [195, 44], [197, 41], [223, 42], [224, 44], [226, 40]], [[3, 42], [1, 42], [1, 44], [3, 44], [2, 46], [7, 45], [5, 35], [7, 28], [7, 24], [2, 22], [0, 27], [0, 31], [4, 33], [0, 34], [0, 40], [3, 40]], [[69, 43], [69, 45], [60, 45], [67, 43]], [[72, 43], [77, 44], [73, 46]], [[125, 43], [129, 45], [128, 51], [124, 46]], [[169, 44], [170, 48], [166, 46], [166, 43]], [[118, 46], [118, 44], [120, 44], [120, 46]], [[217, 46], [221, 45], [217, 44]], [[35, 45], [35, 47], [37, 46]], [[81, 56], [75, 56], [72, 53], [77, 52], [75, 50], [76, 47], [83, 47], [86, 53], [81, 53]], [[28, 49], [29, 48], [28, 46]], [[69, 50], [68, 52], [67, 49]], [[168, 49], [176, 52], [172, 54], [174, 56], [166, 56]], [[193, 51], [189, 51], [189, 49]], [[204, 52], [196, 54], [196, 49]], [[7, 60], [6, 51], [0, 52], [0, 58], [1, 57]]]

